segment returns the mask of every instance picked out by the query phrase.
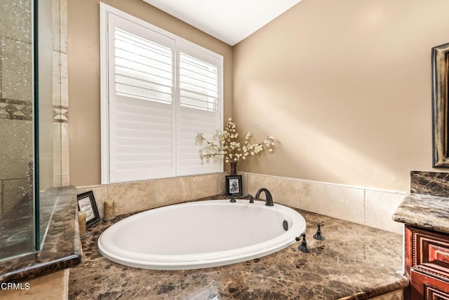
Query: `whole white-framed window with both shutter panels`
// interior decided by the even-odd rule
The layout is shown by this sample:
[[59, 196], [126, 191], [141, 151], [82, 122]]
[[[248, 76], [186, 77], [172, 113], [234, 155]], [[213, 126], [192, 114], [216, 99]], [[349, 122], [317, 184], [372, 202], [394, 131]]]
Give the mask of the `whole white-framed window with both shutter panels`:
[[222, 56], [105, 4], [102, 183], [221, 172], [196, 133], [222, 128]]

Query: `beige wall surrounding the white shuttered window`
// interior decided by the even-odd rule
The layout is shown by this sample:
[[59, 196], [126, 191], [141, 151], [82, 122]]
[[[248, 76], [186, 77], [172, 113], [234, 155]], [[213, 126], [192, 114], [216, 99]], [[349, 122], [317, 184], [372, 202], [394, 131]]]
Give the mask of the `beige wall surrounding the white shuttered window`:
[[[232, 47], [141, 0], [105, 0], [224, 57], [225, 117], [232, 114]], [[100, 184], [100, 1], [69, 0], [70, 184]]]

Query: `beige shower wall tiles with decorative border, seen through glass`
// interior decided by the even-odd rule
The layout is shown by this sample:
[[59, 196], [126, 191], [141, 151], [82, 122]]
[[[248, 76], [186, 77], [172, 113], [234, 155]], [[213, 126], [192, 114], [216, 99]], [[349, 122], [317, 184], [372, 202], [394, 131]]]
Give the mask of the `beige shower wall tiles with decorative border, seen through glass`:
[[0, 217], [29, 192], [32, 161], [32, 1], [0, 6]]

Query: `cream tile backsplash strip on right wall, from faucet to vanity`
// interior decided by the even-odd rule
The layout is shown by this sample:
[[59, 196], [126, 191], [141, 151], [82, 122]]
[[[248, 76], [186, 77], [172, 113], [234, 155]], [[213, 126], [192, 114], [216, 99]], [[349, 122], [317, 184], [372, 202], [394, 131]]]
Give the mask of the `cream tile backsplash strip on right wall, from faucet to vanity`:
[[242, 173], [244, 193], [266, 187], [276, 203], [402, 234], [391, 219], [406, 192]]

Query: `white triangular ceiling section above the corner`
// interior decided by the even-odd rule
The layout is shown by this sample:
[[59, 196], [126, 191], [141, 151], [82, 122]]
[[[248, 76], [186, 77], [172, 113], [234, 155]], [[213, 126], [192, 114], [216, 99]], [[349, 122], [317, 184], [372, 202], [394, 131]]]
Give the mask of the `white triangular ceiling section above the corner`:
[[301, 0], [143, 0], [234, 46]]

